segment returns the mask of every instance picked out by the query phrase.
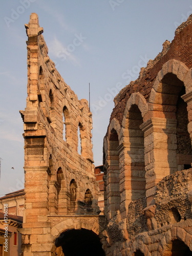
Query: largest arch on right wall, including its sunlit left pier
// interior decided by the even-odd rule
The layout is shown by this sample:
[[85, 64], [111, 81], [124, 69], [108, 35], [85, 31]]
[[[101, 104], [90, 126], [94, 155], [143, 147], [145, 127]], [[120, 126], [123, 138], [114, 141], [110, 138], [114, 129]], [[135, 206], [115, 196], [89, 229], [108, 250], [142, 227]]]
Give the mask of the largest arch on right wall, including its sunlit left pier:
[[[179, 124], [178, 121], [180, 119], [187, 120], [190, 116], [188, 113], [187, 117], [187, 111], [185, 115], [183, 114], [183, 109], [186, 110], [187, 105], [182, 99], [186, 96], [185, 89], [186, 92], [191, 91], [189, 86], [186, 87], [189, 80], [192, 81], [191, 77], [189, 78], [189, 73], [184, 63], [175, 59], [168, 60], [158, 72], [151, 90], [148, 103], [151, 118], [141, 125], [141, 129], [147, 134], [145, 138], [146, 183], [151, 179], [151, 184], [153, 183], [154, 186], [163, 177], [182, 170], [184, 165], [188, 166], [191, 163], [190, 137], [192, 135], [190, 137], [189, 134], [187, 135], [189, 131], [187, 131], [187, 124], [184, 128], [184, 122], [181, 121]], [[152, 127], [153, 129], [151, 129]], [[186, 134], [184, 143], [183, 132]], [[180, 145], [178, 138], [181, 143], [189, 144], [189, 154], [186, 153], [185, 147], [178, 147]], [[153, 190], [155, 191], [155, 189]], [[147, 195], [151, 199], [147, 199], [147, 201], [150, 203], [155, 192], [154, 194], [149, 192], [147, 191]]]

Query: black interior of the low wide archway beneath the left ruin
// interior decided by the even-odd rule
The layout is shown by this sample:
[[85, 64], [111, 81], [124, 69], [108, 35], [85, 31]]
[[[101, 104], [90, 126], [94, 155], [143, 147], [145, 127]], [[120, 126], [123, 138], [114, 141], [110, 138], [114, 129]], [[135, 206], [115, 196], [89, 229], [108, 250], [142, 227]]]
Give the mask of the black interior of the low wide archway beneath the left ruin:
[[63, 232], [55, 242], [61, 246], [65, 256], [104, 256], [99, 237], [84, 228], [70, 229]]

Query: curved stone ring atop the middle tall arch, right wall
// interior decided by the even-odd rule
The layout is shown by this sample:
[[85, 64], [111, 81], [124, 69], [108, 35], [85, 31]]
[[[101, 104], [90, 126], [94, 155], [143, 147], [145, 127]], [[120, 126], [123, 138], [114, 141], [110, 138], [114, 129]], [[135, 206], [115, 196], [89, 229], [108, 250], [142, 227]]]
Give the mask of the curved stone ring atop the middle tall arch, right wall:
[[129, 121], [127, 116], [129, 115], [129, 111], [132, 107], [132, 105], [137, 105], [138, 109], [141, 112], [142, 118], [146, 115], [148, 112], [148, 105], [143, 95], [138, 93], [133, 93], [129, 100], [126, 102], [124, 114], [123, 114], [123, 120], [122, 120], [122, 127], [126, 129], [129, 126]]

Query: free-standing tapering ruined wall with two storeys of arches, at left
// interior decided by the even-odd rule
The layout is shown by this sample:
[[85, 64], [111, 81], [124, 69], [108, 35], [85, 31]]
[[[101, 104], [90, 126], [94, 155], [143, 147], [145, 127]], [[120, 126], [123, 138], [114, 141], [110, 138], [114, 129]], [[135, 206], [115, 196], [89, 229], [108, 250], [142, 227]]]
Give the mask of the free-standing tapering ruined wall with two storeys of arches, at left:
[[[35, 13], [25, 27], [28, 96], [25, 111], [20, 111], [25, 138], [25, 211], [20, 230], [23, 255], [55, 255], [51, 252], [56, 239], [54, 225], [57, 230], [61, 225], [60, 231], [81, 228], [80, 224], [71, 227], [59, 223], [89, 216], [87, 223], [91, 223], [92, 229], [93, 216], [99, 214], [91, 142], [92, 113], [88, 101], [78, 100], [49, 58]], [[78, 223], [81, 222], [79, 219]]]

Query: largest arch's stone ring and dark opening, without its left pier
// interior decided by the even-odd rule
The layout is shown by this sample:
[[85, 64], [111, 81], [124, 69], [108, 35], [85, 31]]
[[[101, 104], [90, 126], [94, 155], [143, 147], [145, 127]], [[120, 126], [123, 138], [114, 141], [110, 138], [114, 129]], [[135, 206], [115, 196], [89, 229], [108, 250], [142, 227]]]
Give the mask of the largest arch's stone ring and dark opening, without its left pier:
[[[183, 97], [185, 98], [186, 93], [192, 91], [191, 85], [189, 87], [189, 80], [190, 83], [192, 83], [192, 77], [191, 75], [189, 77], [189, 73], [191, 72], [189, 72], [188, 68], [181, 61], [175, 59], [168, 60], [164, 63], [161, 71], [159, 71], [150, 95], [149, 101], [154, 104], [154, 109], [158, 110], [158, 115], [161, 118], [165, 118], [164, 132], [166, 135], [164, 135], [164, 137], [167, 136], [167, 144], [170, 144], [168, 141], [177, 141], [175, 142], [175, 147], [177, 146], [177, 156], [175, 159], [177, 158], [178, 162], [175, 166], [169, 163], [170, 173], [167, 174], [182, 170], [191, 163], [191, 139], [187, 130], [188, 117], [190, 117], [190, 115], [187, 113], [187, 104], [182, 99]], [[175, 124], [173, 120], [175, 120]], [[170, 124], [170, 122], [172, 122], [172, 124]], [[168, 131], [170, 129], [174, 131], [170, 133], [170, 131]], [[184, 133], [185, 148], [186, 145], [188, 145], [185, 152], [181, 146], [184, 140]], [[171, 146], [173, 147], [173, 144], [168, 147]], [[167, 161], [170, 162], [169, 158], [174, 157], [173, 152], [170, 152], [170, 150], [167, 151]], [[187, 151], [190, 153], [186, 154]], [[180, 155], [185, 155], [185, 160], [182, 160], [182, 156]]]

